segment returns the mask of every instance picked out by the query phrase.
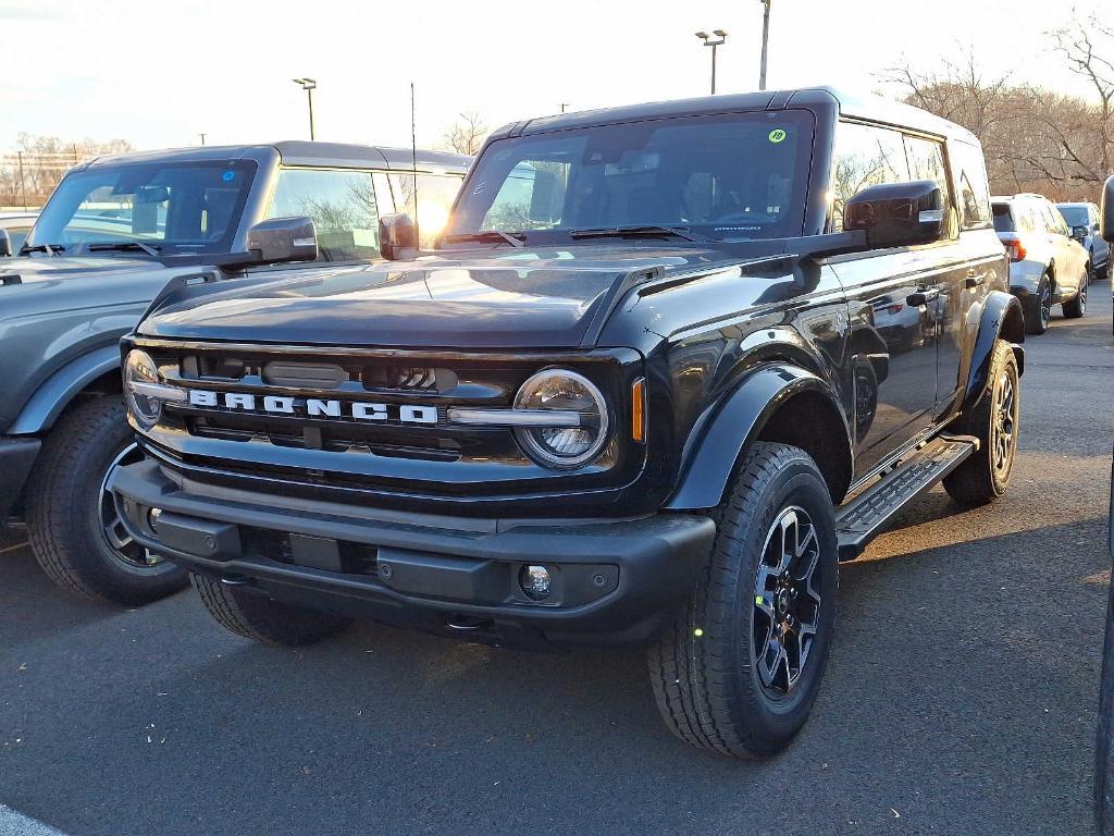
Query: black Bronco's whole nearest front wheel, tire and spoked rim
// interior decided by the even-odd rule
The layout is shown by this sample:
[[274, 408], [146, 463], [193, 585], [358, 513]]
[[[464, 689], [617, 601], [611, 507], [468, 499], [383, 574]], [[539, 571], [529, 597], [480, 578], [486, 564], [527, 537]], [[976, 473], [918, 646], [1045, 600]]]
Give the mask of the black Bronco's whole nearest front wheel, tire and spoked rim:
[[658, 709], [687, 743], [784, 749], [808, 719], [836, 625], [836, 524], [803, 450], [756, 443], [717, 513], [695, 592], [647, 657]]

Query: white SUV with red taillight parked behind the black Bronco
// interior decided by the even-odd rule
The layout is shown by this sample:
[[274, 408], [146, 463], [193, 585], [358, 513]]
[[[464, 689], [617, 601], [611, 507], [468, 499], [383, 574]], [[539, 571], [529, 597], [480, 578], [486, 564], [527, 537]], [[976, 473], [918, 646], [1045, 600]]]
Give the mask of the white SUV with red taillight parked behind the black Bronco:
[[994, 227], [1009, 254], [1009, 290], [1022, 300], [1026, 333], [1048, 330], [1054, 304], [1068, 319], [1086, 312], [1087, 251], [1052, 201], [1038, 194], [995, 197]]

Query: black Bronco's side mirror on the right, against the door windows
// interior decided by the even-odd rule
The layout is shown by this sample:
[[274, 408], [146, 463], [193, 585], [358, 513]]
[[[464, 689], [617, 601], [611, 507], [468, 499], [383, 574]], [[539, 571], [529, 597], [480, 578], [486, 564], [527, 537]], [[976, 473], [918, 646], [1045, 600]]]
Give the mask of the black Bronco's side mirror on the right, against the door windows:
[[871, 250], [931, 244], [944, 232], [940, 187], [918, 179], [864, 188], [843, 206], [843, 229], [864, 231]]

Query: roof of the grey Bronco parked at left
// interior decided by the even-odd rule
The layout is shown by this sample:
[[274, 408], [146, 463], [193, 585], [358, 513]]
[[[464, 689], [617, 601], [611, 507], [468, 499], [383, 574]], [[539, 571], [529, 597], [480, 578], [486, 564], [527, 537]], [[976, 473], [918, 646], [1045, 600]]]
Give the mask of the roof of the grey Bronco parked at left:
[[[420, 171], [441, 171], [463, 174], [472, 158], [463, 154], [422, 150], [411, 161], [410, 148], [389, 148], [354, 143], [320, 143], [285, 139], [261, 145], [202, 145], [192, 148], [167, 148], [111, 154], [85, 163], [85, 166], [121, 165], [152, 162], [205, 162], [223, 159], [255, 159], [263, 162], [274, 152], [284, 165], [304, 165], [330, 168], [388, 168], [409, 171], [412, 162]], [[80, 167], [80, 166], [79, 166]]]

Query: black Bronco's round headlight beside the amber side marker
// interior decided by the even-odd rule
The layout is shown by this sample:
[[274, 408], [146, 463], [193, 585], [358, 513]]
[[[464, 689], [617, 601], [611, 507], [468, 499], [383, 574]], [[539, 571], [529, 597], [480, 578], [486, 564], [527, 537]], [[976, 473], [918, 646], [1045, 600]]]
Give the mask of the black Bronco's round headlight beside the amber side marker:
[[[515, 436], [526, 454], [545, 467], [559, 470], [580, 467], [594, 459], [607, 443], [607, 404], [599, 389], [583, 375], [547, 369], [531, 377], [515, 396], [515, 409], [544, 412], [557, 410], [579, 415], [577, 426], [518, 427]], [[543, 416], [544, 417], [544, 416]]]

